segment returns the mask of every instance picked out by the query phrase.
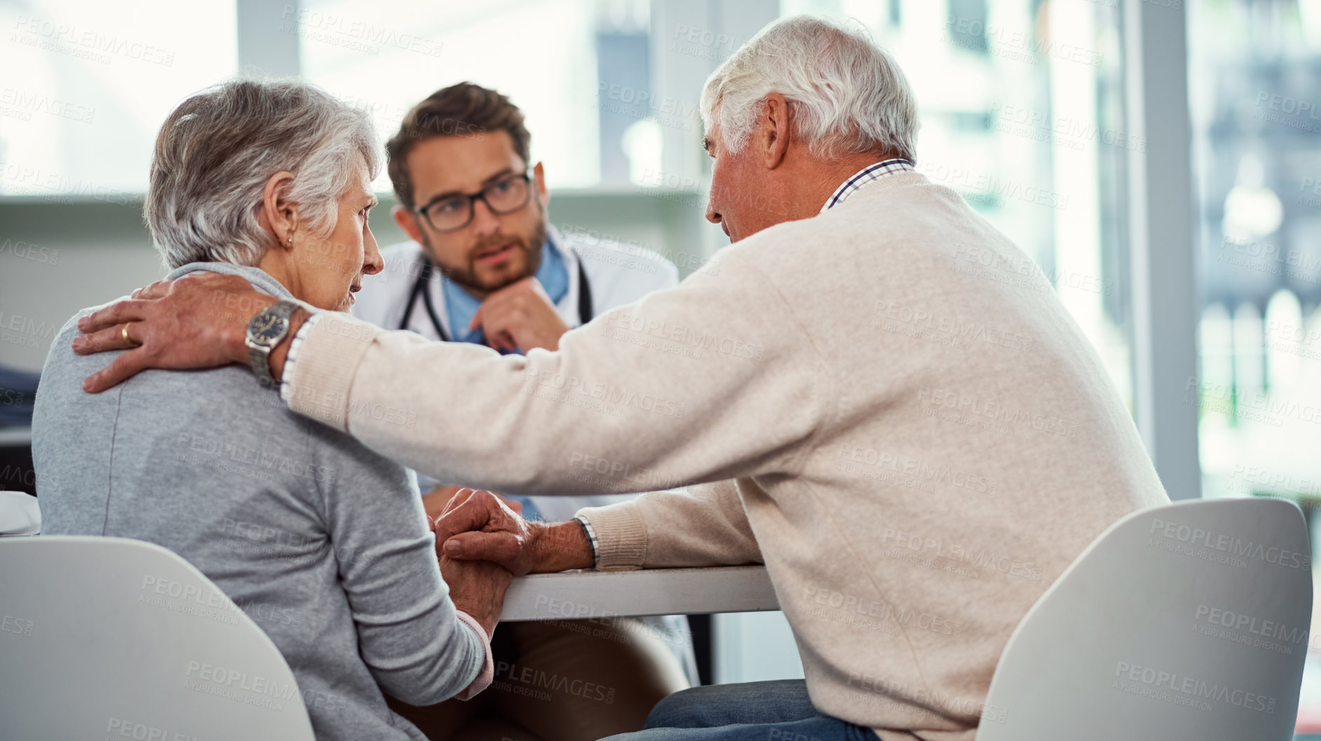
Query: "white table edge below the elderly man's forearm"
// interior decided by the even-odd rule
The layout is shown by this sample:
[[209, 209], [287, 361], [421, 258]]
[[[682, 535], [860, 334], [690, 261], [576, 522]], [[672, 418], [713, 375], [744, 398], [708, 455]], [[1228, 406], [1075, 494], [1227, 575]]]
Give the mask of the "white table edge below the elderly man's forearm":
[[514, 579], [501, 621], [777, 609], [765, 566], [565, 571]]

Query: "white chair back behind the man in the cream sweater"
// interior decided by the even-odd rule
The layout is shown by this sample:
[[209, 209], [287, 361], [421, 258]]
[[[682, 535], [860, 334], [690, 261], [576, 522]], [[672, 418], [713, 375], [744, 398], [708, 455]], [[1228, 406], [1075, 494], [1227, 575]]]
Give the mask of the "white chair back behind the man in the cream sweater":
[[1310, 547], [1292, 502], [1133, 513], [1015, 630], [978, 741], [1289, 741], [1310, 621]]

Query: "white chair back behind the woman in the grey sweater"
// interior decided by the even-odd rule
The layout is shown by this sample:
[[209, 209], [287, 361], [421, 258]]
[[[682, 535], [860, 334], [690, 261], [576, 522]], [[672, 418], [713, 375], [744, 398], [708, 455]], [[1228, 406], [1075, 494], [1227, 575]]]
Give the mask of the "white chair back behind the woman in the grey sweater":
[[40, 535], [0, 563], [5, 738], [312, 741], [275, 643], [178, 555]]

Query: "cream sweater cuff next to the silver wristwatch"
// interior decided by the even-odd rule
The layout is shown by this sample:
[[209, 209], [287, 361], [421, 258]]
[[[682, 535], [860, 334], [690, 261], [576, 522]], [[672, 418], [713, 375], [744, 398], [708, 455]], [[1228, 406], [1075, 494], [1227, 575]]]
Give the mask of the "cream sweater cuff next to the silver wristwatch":
[[338, 311], [304, 323], [295, 335], [299, 353], [289, 369], [289, 409], [347, 432], [353, 377], [379, 331], [375, 324]]

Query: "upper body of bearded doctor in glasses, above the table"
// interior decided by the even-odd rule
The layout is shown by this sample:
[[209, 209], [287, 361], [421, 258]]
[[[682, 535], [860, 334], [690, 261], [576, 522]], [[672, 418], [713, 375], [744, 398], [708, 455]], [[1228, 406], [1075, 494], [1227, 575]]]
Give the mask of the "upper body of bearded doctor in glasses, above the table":
[[[523, 112], [494, 90], [464, 82], [416, 104], [386, 144], [399, 198], [392, 216], [411, 241], [380, 251], [386, 266], [363, 280], [354, 316], [526, 353], [557, 349], [571, 328], [678, 285], [675, 266], [651, 251], [587, 245], [552, 227], [544, 167], [528, 167], [530, 145]], [[454, 489], [428, 494], [428, 514], [440, 516]], [[524, 517], [546, 519], [618, 501], [515, 498]]]

